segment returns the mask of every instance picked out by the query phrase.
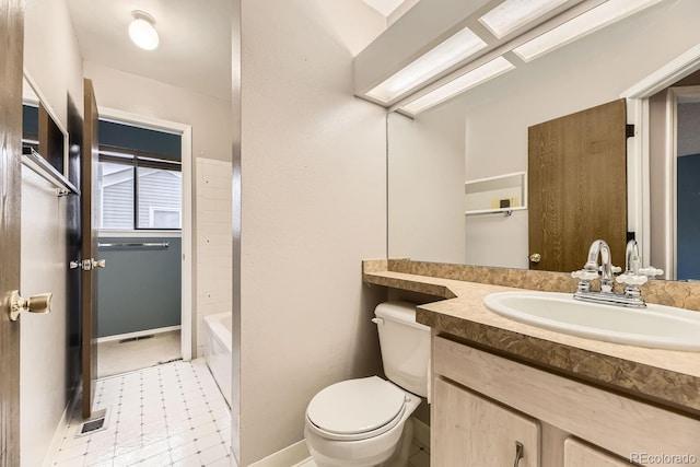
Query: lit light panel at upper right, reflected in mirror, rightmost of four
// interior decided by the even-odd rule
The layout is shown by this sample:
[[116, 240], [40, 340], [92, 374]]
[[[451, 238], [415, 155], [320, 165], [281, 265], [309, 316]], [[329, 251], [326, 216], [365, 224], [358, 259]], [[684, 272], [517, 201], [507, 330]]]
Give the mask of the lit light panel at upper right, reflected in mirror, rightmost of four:
[[513, 51], [523, 60], [530, 61], [660, 1], [661, 0], [608, 0], [553, 30], [535, 37], [522, 46], [514, 48]]

